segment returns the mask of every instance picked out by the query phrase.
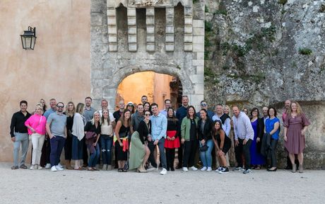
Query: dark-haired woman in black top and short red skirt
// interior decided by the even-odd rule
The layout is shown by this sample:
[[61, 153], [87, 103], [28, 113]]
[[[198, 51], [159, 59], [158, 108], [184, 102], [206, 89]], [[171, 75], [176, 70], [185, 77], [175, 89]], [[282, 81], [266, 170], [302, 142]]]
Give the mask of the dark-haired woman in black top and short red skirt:
[[167, 160], [167, 171], [175, 171], [175, 148], [179, 148], [179, 140], [177, 138], [177, 118], [173, 108], [167, 109], [167, 137], [165, 140], [165, 151]]

